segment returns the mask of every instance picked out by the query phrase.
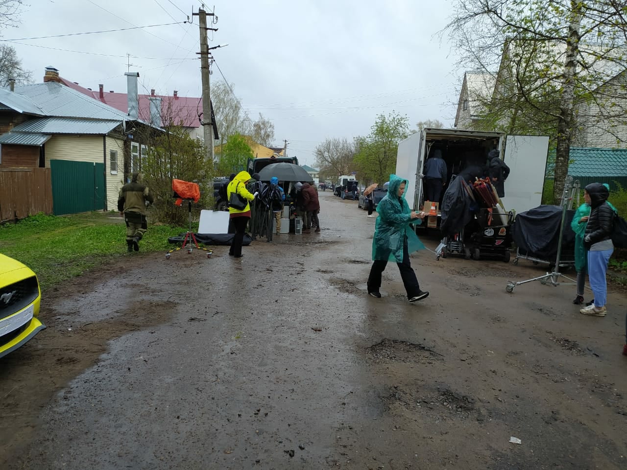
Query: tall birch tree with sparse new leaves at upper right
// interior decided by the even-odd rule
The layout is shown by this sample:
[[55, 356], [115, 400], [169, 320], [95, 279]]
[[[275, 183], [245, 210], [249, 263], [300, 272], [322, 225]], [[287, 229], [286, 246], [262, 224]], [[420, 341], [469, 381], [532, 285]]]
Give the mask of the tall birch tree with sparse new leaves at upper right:
[[551, 136], [556, 201], [579, 134], [624, 139], [624, 8], [617, 0], [457, 0], [446, 28], [462, 68], [495, 76], [485, 125]]

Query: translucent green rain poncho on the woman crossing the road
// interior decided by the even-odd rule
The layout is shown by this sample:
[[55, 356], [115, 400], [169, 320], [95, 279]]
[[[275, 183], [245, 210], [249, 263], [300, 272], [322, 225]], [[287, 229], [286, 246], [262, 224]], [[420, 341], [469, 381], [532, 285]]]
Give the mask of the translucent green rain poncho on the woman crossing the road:
[[390, 175], [386, 196], [377, 204], [377, 223], [372, 239], [372, 259], [403, 263], [403, 241], [407, 236], [408, 253], [423, 249], [424, 245], [416, 236], [411, 224], [421, 224], [421, 219], [411, 220], [411, 209], [405, 194], [398, 196], [401, 183], [407, 180]]

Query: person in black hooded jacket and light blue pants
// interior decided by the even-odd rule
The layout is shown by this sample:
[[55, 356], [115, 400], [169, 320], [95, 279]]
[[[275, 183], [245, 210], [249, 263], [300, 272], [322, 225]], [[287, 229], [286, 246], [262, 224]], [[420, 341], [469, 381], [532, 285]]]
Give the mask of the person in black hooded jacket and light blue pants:
[[607, 202], [608, 188], [603, 184], [591, 183], [585, 190], [584, 200], [590, 204], [590, 216], [584, 233], [584, 247], [588, 250], [588, 278], [594, 293], [594, 303], [579, 311], [584, 315], [605, 316], [608, 296], [606, 272], [609, 257], [614, 251], [611, 238], [614, 211]]

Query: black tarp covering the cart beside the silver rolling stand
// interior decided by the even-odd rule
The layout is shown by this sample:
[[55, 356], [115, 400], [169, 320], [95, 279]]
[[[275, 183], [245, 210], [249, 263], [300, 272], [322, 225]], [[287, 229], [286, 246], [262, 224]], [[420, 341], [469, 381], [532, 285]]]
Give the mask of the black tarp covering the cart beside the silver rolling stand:
[[[572, 248], [575, 233], [571, 229], [575, 211], [566, 211], [562, 250]], [[516, 245], [527, 252], [528, 256], [554, 260], [557, 254], [557, 242], [562, 221], [562, 208], [559, 206], [538, 206], [517, 214], [512, 224], [512, 237]]]

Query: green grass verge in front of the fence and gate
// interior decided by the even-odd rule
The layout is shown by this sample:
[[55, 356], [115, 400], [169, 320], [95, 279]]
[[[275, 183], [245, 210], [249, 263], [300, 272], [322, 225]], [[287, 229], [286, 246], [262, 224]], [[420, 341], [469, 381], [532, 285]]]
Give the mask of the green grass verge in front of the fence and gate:
[[[109, 217], [111, 213], [102, 212], [71, 216], [39, 214], [16, 224], [4, 224], [0, 226], [0, 253], [33, 269], [41, 289], [46, 290], [98, 264], [127, 256], [125, 225]], [[149, 224], [141, 250], [167, 251], [171, 249], [167, 238], [182, 231], [186, 229]]]

